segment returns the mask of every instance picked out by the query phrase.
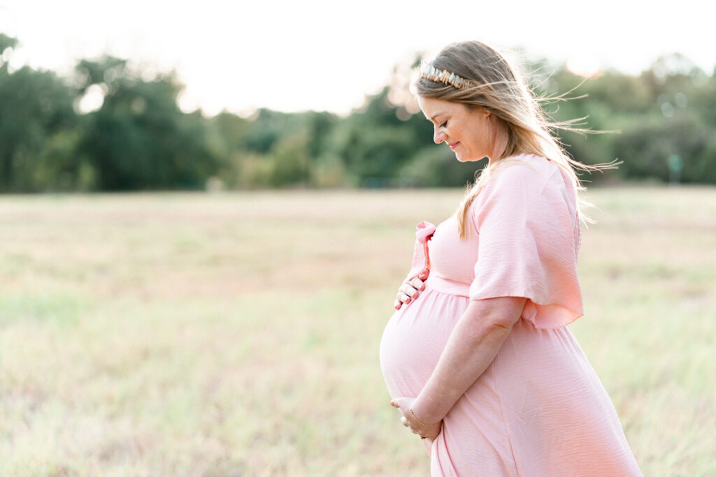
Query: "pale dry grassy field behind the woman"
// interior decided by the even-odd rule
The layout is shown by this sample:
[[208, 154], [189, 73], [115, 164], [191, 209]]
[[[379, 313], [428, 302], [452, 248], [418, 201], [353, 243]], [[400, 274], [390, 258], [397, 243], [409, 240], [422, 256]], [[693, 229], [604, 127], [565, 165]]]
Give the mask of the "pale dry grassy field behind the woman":
[[[459, 197], [0, 197], [0, 476], [427, 476], [378, 344]], [[644, 475], [716, 475], [716, 189], [590, 198], [572, 328]]]

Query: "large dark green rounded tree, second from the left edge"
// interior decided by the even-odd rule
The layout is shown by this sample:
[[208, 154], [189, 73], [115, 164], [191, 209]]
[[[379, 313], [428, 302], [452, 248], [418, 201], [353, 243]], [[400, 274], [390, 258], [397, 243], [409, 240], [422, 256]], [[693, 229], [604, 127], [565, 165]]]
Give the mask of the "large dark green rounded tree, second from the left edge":
[[78, 155], [95, 171], [99, 190], [203, 187], [216, 174], [218, 155], [209, 144], [208, 123], [177, 106], [181, 86], [171, 76], [150, 81], [132, 75], [124, 60], [82, 60], [80, 92], [98, 85], [102, 107], [83, 118]]

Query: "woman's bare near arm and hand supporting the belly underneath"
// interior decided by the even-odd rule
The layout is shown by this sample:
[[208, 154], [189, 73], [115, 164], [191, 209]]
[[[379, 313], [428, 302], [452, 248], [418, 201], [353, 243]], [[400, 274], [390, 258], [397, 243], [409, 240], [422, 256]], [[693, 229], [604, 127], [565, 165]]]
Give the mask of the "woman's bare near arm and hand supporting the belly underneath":
[[437, 435], [434, 424], [442, 421], [493, 362], [520, 319], [526, 300], [523, 297], [470, 300], [417, 398], [391, 401], [405, 416], [406, 426], [420, 436], [434, 438]]

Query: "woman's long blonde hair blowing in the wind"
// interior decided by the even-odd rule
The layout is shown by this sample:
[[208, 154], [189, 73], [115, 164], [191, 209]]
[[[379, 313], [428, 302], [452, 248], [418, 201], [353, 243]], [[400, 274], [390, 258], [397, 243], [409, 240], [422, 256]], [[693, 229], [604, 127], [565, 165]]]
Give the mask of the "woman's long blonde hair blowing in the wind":
[[581, 184], [575, 169], [591, 172], [611, 169], [616, 164], [611, 162], [587, 165], [569, 157], [553, 132], [556, 129], [589, 131], [574, 127], [574, 124], [581, 119], [568, 122], [551, 121], [544, 114], [540, 104], [546, 100], [563, 99], [563, 97], [538, 99], [505, 57], [480, 41], [463, 41], [446, 46], [432, 61], [432, 66], [454, 73], [468, 80], [471, 85], [469, 88], [458, 89], [450, 84], [420, 78], [413, 85], [417, 96], [465, 104], [473, 109], [485, 109], [498, 118], [508, 134], [507, 147], [502, 156], [490, 158], [490, 164], [480, 172], [475, 183], [468, 186], [463, 202], [458, 207], [456, 214], [461, 239], [465, 240], [468, 235], [468, 210], [475, 197], [478, 197], [504, 159], [516, 154], [536, 154], [551, 159], [561, 167], [574, 185], [579, 218], [584, 222], [591, 222], [583, 212], [589, 203], [582, 200], [579, 195], [585, 187]]

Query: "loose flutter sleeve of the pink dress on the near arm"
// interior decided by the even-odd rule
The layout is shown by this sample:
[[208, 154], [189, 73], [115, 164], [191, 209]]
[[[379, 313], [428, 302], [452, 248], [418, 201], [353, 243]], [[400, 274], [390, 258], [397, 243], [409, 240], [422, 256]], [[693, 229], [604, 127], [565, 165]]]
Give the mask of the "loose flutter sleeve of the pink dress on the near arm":
[[473, 203], [478, 261], [470, 299], [526, 297], [522, 318], [558, 328], [582, 315], [574, 192], [556, 167], [505, 167]]

